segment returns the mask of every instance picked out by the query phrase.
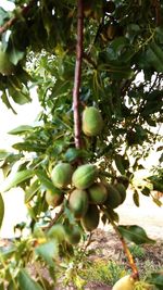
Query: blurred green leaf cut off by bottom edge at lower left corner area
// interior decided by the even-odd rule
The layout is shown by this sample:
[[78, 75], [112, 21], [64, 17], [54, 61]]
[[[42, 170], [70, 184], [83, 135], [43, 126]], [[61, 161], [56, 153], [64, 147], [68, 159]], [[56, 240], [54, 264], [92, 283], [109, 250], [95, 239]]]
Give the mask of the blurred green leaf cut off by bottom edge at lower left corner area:
[[20, 288], [23, 290], [43, 290], [39, 283], [30, 278], [26, 269], [20, 269], [17, 280]]

